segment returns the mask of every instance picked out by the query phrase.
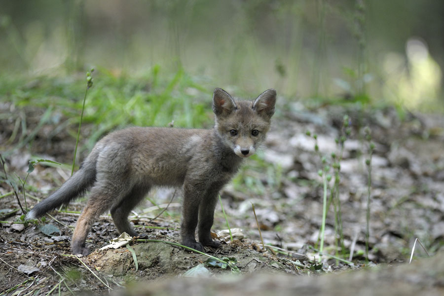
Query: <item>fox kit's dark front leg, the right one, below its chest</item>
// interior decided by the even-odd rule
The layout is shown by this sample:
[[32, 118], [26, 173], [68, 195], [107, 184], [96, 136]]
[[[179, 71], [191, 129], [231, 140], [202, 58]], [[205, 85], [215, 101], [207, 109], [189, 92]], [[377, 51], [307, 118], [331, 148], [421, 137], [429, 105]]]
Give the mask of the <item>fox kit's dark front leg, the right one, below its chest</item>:
[[219, 248], [222, 244], [211, 238], [211, 226], [213, 226], [214, 209], [218, 201], [219, 188], [210, 188], [199, 205], [199, 222], [197, 232], [199, 242], [204, 246]]

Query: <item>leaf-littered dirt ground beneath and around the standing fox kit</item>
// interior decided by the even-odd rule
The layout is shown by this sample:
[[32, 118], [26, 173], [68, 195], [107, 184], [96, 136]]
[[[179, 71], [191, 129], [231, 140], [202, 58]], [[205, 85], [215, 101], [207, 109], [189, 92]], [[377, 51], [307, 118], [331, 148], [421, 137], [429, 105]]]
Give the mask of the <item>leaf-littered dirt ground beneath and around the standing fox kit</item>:
[[[7, 111], [10, 106], [6, 104], [1, 108], [1, 111]], [[281, 111], [273, 118], [266, 148], [257, 160], [246, 161], [238, 177], [221, 194], [231, 229], [240, 228], [242, 233], [238, 233], [233, 242], [226, 234], [215, 234], [223, 246], [217, 250], [206, 249], [206, 253], [218, 258], [235, 258], [240, 272], [252, 275], [267, 272], [294, 277], [364, 266], [368, 142], [363, 127], [367, 125], [375, 144], [371, 160], [370, 266], [405, 262], [416, 238], [430, 254], [444, 249], [442, 116], [407, 114], [404, 120], [400, 120], [391, 108], [366, 112], [350, 107], [323, 107], [313, 111], [297, 103], [278, 106], [277, 110]], [[32, 118], [37, 126], [43, 111], [24, 112], [34, 114], [29, 117], [29, 126], [32, 126]], [[352, 256], [347, 259], [354, 264], [325, 256], [322, 264], [318, 264], [319, 253], [313, 250], [313, 247], [319, 247], [322, 221], [323, 186], [318, 170], [323, 167], [322, 156], [326, 156], [329, 162], [332, 152], [340, 153], [335, 139], [342, 135], [344, 114], [348, 114], [352, 128], [340, 162], [339, 200], [344, 247], [348, 252], [353, 249]], [[0, 119], [0, 150], [9, 178], [13, 179], [14, 173], [25, 178], [31, 156], [63, 163], [72, 161], [75, 140], [70, 133], [75, 130], [74, 125], [64, 129], [50, 124], [38, 130], [30, 128], [27, 133], [35, 132], [35, 139], [20, 147], [18, 142], [7, 141], [15, 121], [14, 115]], [[87, 139], [92, 129], [92, 126], [82, 129], [83, 139]], [[317, 134], [319, 153], [314, 149], [313, 137], [306, 135], [307, 130]], [[26, 135], [23, 138], [26, 139]], [[87, 151], [81, 151], [80, 158], [86, 154]], [[45, 198], [69, 176], [69, 168], [38, 164], [26, 183], [28, 207]], [[334, 178], [330, 187], [333, 182]], [[21, 204], [25, 207], [20, 186], [18, 189]], [[159, 189], [148, 199], [162, 208], [172, 195], [172, 190]], [[60, 291], [63, 295], [82, 291], [108, 294], [111, 289], [119, 289], [131, 282], [183, 277], [186, 271], [202, 266], [199, 264], [208, 259], [158, 242], [131, 242], [129, 248], [99, 251], [118, 235], [108, 215], [94, 223], [88, 236], [87, 247], [95, 250], [92, 254], [80, 259], [65, 256], [70, 254], [70, 239], [78, 217], [76, 211], [81, 210], [84, 199], [71, 204], [68, 212], [47, 216], [45, 222], [24, 224], [11, 186], [1, 183], [0, 196], [1, 295], [18, 295], [19, 291], [20, 295], [46, 294], [51, 289], [54, 289], [53, 293]], [[160, 210], [148, 199], [134, 211], [132, 222], [136, 227], [145, 228], [140, 232], [148, 233], [150, 239], [180, 242], [180, 194], [162, 216], [152, 221]], [[266, 252], [261, 250], [251, 203], [255, 205], [265, 244], [277, 248], [268, 248]], [[220, 206], [216, 212], [213, 230], [227, 229]], [[332, 255], [336, 253], [335, 241], [331, 207], [325, 244], [326, 252]], [[426, 257], [419, 246], [415, 255]], [[430, 266], [430, 270], [434, 267]], [[199, 277], [232, 273], [229, 267], [222, 269], [219, 266], [206, 266], [199, 272]], [[431, 276], [439, 277], [442, 270], [440, 272]], [[435, 281], [433, 285], [443, 289], [444, 283]]]

